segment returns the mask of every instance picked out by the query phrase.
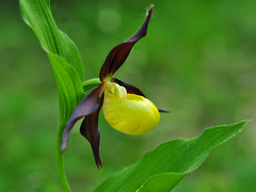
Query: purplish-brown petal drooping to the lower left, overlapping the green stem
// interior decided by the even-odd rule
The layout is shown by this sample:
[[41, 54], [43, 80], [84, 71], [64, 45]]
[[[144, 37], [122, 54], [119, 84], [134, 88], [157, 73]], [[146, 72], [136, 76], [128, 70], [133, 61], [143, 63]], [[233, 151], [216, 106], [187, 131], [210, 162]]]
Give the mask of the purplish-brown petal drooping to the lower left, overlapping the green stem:
[[99, 87], [93, 89], [90, 94], [82, 99], [80, 103], [76, 106], [64, 130], [60, 149], [61, 151], [64, 151], [67, 148], [68, 137], [75, 122], [97, 110], [99, 106], [99, 98], [102, 95], [103, 91], [104, 83], [102, 83]]

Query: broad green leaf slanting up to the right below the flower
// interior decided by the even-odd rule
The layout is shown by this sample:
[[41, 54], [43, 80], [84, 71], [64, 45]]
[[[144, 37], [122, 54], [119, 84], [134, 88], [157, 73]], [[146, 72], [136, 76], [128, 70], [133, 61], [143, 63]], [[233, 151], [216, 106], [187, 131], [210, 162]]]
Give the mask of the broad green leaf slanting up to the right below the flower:
[[162, 143], [111, 175], [94, 192], [169, 192], [211, 152], [241, 132], [246, 122], [211, 127], [192, 139]]

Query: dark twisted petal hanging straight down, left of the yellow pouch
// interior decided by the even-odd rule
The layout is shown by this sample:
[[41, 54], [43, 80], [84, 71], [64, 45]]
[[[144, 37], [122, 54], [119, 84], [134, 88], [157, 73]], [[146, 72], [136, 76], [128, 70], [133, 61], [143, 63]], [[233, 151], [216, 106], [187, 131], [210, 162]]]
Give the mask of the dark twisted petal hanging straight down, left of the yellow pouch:
[[100, 130], [98, 127], [99, 112], [103, 104], [104, 94], [99, 98], [99, 106], [96, 111], [86, 116], [80, 126], [80, 133], [84, 136], [91, 144], [91, 149], [95, 159], [95, 163], [100, 169], [102, 168], [99, 146], [100, 146]]

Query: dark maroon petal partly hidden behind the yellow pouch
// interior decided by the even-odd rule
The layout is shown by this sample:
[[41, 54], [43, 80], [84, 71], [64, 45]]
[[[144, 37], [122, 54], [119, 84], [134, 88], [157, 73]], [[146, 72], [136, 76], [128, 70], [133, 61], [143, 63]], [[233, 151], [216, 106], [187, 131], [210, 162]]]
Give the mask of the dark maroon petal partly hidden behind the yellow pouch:
[[[117, 78], [112, 78], [110, 80], [110, 82], [117, 83], [118, 85], [123, 86], [126, 89], [127, 93], [129, 93], [129, 94], [140, 95], [140, 96], [146, 98], [146, 96], [141, 92], [141, 90], [139, 90], [138, 88], [136, 88], [135, 86], [133, 86], [131, 84], [125, 83], [123, 81], [120, 81]], [[158, 109], [159, 112], [170, 113], [169, 110], [164, 109], [164, 108], [158, 108], [157, 107], [157, 109]]]

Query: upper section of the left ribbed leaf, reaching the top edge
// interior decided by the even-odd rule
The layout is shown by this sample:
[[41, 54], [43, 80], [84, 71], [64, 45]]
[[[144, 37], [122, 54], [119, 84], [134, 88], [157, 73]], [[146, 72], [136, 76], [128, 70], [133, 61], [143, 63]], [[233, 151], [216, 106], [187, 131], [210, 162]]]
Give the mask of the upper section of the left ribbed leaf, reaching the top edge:
[[60, 56], [73, 66], [84, 81], [82, 60], [69, 37], [60, 31], [53, 19], [49, 0], [20, 0], [23, 20], [35, 32], [41, 47], [47, 52]]

